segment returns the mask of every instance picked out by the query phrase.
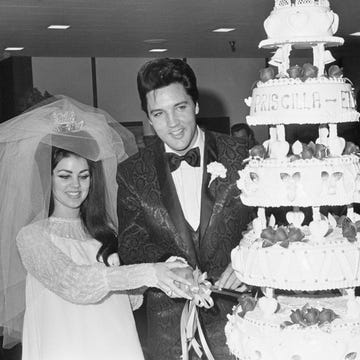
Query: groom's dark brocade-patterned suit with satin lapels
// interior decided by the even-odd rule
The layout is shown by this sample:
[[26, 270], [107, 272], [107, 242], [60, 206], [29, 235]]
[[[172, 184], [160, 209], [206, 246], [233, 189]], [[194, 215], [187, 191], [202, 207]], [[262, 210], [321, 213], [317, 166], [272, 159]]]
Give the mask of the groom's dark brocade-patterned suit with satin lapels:
[[[214, 282], [230, 263], [250, 221], [236, 186], [238, 170], [248, 156], [244, 140], [205, 131], [204, 171], [199, 237], [194, 241], [164, 156], [164, 144], [153, 144], [118, 167], [119, 255], [123, 263], [165, 261], [180, 256], [207, 272]], [[225, 179], [211, 174], [207, 164], [217, 161], [227, 169]], [[148, 348], [152, 360], [179, 359], [180, 316], [184, 299], [171, 299], [157, 289], [146, 292]], [[236, 299], [216, 297], [215, 306], [201, 310], [202, 327], [215, 359], [233, 359], [225, 345], [226, 314]], [[193, 357], [195, 358], [195, 357]]]

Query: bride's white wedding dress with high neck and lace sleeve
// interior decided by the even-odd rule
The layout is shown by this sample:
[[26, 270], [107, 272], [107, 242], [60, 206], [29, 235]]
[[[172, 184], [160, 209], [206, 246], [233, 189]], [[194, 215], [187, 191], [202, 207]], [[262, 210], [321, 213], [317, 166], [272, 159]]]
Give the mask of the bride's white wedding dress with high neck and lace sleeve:
[[28, 271], [23, 360], [143, 360], [131, 308], [142, 296], [124, 290], [152, 286], [151, 264], [98, 263], [100, 243], [74, 219], [29, 225], [17, 245]]

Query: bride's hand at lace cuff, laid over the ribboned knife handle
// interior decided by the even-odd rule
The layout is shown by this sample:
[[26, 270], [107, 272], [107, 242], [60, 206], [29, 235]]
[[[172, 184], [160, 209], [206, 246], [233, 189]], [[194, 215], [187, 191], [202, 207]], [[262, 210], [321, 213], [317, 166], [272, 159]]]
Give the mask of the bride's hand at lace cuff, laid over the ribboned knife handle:
[[179, 262], [155, 263], [155, 275], [158, 279], [157, 287], [170, 297], [183, 297], [192, 299], [184, 290], [192, 285], [185, 279], [185, 274], [180, 272], [181, 269], [188, 268], [187, 264]]

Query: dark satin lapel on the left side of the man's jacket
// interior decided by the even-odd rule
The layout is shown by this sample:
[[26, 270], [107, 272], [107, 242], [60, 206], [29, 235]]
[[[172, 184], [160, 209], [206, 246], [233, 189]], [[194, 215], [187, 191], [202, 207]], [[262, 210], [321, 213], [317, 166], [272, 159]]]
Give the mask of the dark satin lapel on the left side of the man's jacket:
[[[171, 221], [180, 234], [180, 238], [175, 236], [175, 242], [180, 249], [186, 249], [186, 253], [191, 259], [192, 265], [195, 265], [198, 261], [193, 239], [181, 208], [169, 164], [165, 158], [164, 144], [161, 141], [158, 142], [157, 149], [154, 151], [154, 154], [161, 199], [167, 212], [169, 213]], [[182, 244], [179, 244], [179, 241], [182, 241]]]

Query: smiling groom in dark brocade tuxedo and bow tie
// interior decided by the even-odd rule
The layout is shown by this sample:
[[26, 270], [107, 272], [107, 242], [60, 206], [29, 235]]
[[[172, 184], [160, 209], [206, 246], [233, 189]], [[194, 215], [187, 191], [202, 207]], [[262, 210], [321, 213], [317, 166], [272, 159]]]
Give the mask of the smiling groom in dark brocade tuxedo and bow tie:
[[[230, 252], [249, 222], [236, 187], [237, 171], [248, 156], [246, 142], [196, 125], [196, 77], [182, 60], [146, 63], [137, 83], [142, 109], [158, 139], [118, 168], [121, 259], [140, 263], [181, 257], [193, 269], [207, 272], [213, 283], [235, 289], [240, 282], [231, 268]], [[184, 156], [184, 161], [173, 154]], [[227, 173], [210, 183], [207, 165], [213, 162], [222, 164]], [[181, 355], [180, 316], [185, 301], [167, 295], [147, 292], [152, 360]], [[215, 359], [233, 359], [224, 326], [236, 299], [216, 295], [213, 299], [213, 308], [200, 310], [202, 327]]]

